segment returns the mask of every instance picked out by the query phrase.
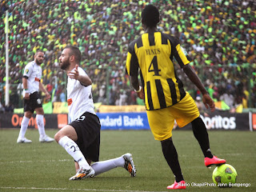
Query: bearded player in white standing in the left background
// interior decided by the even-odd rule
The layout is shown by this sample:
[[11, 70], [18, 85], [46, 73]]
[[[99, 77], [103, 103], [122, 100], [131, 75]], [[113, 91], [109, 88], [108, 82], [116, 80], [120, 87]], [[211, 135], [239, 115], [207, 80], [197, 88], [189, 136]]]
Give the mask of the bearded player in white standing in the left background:
[[24, 69], [22, 83], [23, 83], [23, 98], [24, 98], [24, 117], [22, 118], [21, 130], [18, 134], [17, 142], [32, 142], [25, 137], [27, 126], [29, 125], [30, 118], [36, 111], [36, 121], [38, 123], [39, 142], [53, 142], [54, 138], [46, 135], [45, 126], [43, 122], [44, 111], [42, 109], [41, 99], [38, 90], [42, 90], [46, 94], [46, 99], [50, 98], [50, 94], [40, 82], [42, 77], [41, 64], [43, 62], [44, 53], [38, 50], [34, 54], [34, 61], [29, 62]]

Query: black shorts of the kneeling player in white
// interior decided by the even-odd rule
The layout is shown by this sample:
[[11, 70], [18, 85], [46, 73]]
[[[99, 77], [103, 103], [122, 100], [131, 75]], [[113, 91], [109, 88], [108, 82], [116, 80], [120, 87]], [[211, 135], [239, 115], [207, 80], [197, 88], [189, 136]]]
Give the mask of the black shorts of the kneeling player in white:
[[73, 126], [78, 134], [76, 143], [85, 158], [98, 162], [101, 130], [98, 116], [86, 112], [69, 125]]

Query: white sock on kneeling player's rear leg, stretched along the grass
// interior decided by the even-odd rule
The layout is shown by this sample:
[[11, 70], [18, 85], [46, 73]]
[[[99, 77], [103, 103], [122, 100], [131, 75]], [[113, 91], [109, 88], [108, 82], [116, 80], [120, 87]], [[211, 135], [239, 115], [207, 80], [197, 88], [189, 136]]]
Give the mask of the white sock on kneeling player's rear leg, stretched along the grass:
[[106, 160], [103, 162], [94, 162], [94, 164], [91, 165], [91, 167], [95, 171], [95, 176], [98, 174], [102, 174], [108, 170], [112, 170], [118, 166], [124, 167], [125, 165], [125, 159], [123, 157], [119, 158], [113, 158], [110, 160]]

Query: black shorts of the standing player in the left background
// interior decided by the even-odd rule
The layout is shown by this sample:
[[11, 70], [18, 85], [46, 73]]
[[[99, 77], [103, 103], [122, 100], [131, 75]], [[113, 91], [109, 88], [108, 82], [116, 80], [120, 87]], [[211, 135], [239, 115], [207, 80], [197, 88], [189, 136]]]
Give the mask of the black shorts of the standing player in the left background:
[[35, 109], [42, 107], [42, 102], [39, 97], [38, 91], [34, 92], [33, 94], [30, 94], [30, 99], [23, 99], [23, 100], [24, 100], [24, 112], [30, 110], [33, 114]]

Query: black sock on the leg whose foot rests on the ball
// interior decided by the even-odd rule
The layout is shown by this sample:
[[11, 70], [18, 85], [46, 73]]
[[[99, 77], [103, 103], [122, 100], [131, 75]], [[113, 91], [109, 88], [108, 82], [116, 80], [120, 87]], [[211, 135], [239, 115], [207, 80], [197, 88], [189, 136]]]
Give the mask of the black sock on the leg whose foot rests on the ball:
[[196, 118], [191, 123], [194, 137], [198, 139], [199, 145], [201, 146], [202, 153], [204, 154], [205, 158], [213, 158], [213, 154], [211, 154], [210, 151], [210, 143], [206, 125], [204, 122], [202, 122], [202, 118]]

